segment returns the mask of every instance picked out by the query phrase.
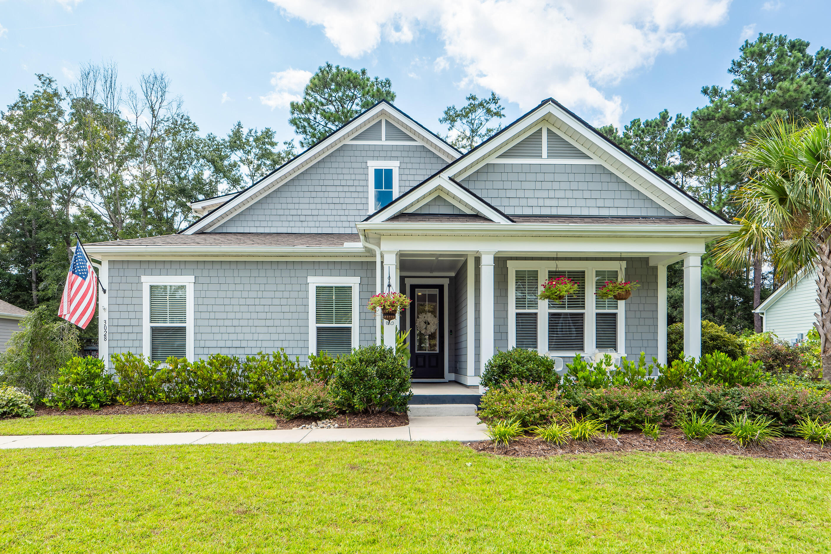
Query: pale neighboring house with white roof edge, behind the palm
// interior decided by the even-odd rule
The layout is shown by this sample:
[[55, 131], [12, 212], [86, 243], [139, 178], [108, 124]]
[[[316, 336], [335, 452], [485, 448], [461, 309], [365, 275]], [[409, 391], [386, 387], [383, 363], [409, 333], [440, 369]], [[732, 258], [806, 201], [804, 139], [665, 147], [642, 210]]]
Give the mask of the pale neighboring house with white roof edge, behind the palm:
[[784, 341], [801, 341], [814, 328], [817, 306], [817, 275], [804, 271], [793, 282], [765, 299], [754, 312], [762, 316], [762, 331], [771, 331]]

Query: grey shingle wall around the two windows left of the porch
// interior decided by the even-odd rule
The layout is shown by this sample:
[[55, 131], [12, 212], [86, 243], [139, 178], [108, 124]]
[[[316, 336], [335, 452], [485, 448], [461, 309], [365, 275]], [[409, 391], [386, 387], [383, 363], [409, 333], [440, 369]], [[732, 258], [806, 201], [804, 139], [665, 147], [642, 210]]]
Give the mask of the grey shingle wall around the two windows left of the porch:
[[307, 277], [361, 277], [361, 345], [375, 344], [375, 262], [120, 261], [109, 262], [110, 354], [142, 346], [142, 275], [194, 275], [194, 355], [256, 354], [285, 348], [308, 354]]

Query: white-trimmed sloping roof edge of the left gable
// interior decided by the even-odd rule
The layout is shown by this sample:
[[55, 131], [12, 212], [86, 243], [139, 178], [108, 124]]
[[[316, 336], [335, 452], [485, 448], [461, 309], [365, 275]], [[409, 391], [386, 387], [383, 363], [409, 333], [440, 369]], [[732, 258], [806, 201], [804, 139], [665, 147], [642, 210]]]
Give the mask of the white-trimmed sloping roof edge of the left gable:
[[[193, 234], [215, 228], [234, 214], [239, 213], [244, 208], [248, 208], [248, 206], [258, 199], [263, 198], [266, 194], [273, 192], [274, 189], [278, 189], [280, 185], [286, 183], [295, 175], [302, 173], [304, 169], [307, 169], [307, 167], [316, 163], [319, 159], [337, 150], [337, 148], [346, 144], [347, 140], [367, 130], [381, 118], [391, 120], [399, 130], [405, 130], [407, 133], [414, 135], [418, 142], [448, 162], [457, 159], [461, 154], [459, 150], [456, 150], [454, 146], [441, 139], [439, 135], [435, 135], [435, 133], [425, 128], [418, 121], [413, 120], [409, 115], [406, 115], [406, 113], [396, 108], [390, 102], [386, 100], [380, 101], [363, 113], [356, 115], [352, 120], [342, 125], [340, 129], [333, 131], [326, 138], [318, 141], [317, 144], [312, 145], [307, 150], [303, 150], [293, 159], [290, 159], [278, 169], [263, 177], [263, 179], [259, 179], [247, 189], [237, 194], [228, 195], [230, 198], [224, 200], [224, 203], [219, 205], [219, 207], [214, 208], [209, 213], [205, 213], [187, 228], [179, 231], [179, 233]], [[219, 199], [224, 199], [224, 197], [219, 197]], [[199, 204], [204, 202], [200, 201]], [[204, 207], [207, 206], [200, 206], [200, 208]]]

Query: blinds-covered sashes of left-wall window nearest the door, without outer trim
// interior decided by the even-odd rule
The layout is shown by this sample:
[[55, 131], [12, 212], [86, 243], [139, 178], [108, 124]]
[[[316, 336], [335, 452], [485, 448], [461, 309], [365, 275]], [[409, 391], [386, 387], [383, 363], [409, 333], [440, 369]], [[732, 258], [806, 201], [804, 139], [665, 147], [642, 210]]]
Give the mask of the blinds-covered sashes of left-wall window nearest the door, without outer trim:
[[315, 287], [317, 354], [348, 354], [352, 351], [352, 287]]

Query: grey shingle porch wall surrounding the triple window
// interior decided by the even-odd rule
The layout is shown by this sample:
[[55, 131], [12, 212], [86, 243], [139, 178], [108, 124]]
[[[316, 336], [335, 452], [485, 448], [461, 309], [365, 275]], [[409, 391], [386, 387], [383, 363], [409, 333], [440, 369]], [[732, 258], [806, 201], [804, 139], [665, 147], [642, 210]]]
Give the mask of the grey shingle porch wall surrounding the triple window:
[[[563, 257], [565, 260], [586, 261], [585, 258]], [[553, 260], [544, 257], [497, 257], [494, 264], [494, 345], [498, 351], [508, 350], [508, 260]], [[617, 261], [617, 260], [616, 260]], [[647, 361], [658, 355], [658, 269], [648, 258], [625, 257], [625, 278], [641, 285], [625, 304], [626, 353], [637, 359], [641, 352]], [[587, 299], [593, 297], [588, 293]], [[591, 349], [590, 349], [591, 350]]]

